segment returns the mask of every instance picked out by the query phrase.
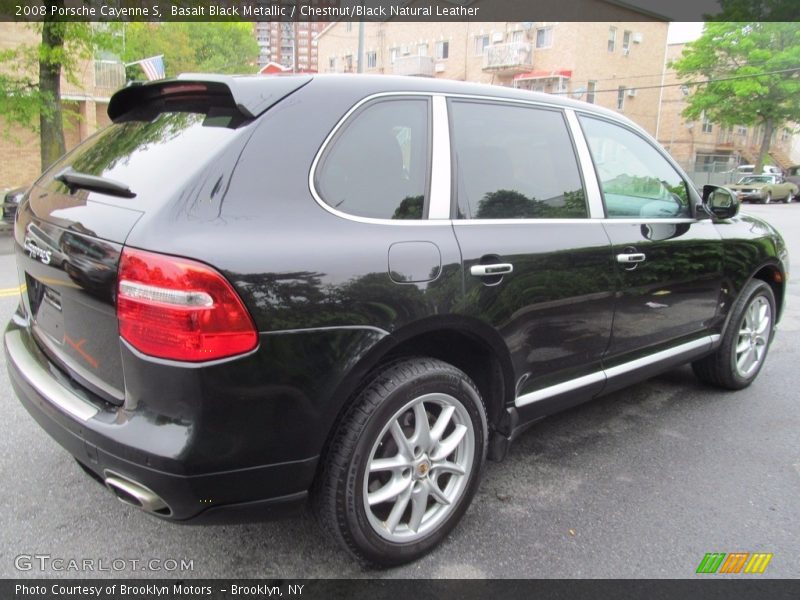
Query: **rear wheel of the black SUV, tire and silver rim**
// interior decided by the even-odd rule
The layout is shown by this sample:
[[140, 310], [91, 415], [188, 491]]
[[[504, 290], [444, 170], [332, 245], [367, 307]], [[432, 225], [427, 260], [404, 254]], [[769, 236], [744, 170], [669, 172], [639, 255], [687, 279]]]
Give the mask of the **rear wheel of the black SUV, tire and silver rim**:
[[486, 409], [466, 374], [431, 358], [389, 364], [336, 429], [313, 492], [317, 520], [365, 563], [415, 560], [467, 510], [486, 446]]

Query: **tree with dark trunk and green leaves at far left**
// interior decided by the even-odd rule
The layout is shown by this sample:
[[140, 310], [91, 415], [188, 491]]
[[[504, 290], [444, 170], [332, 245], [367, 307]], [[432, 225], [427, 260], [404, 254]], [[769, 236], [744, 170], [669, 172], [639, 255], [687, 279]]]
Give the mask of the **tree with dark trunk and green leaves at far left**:
[[[64, 2], [57, 0], [55, 4], [63, 6]], [[68, 81], [79, 83], [77, 73], [82, 61], [111, 44], [113, 27], [49, 20], [18, 27], [35, 29], [38, 42], [0, 52], [0, 117], [7, 136], [15, 125], [39, 131], [44, 170], [65, 152], [62, 74]]]

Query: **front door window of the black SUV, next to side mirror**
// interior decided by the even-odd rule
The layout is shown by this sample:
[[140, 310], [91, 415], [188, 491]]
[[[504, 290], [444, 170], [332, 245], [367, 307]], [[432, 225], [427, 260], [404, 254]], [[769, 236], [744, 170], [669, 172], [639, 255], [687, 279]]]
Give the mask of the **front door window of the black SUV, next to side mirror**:
[[686, 182], [649, 142], [608, 121], [580, 120], [609, 218], [691, 216]]

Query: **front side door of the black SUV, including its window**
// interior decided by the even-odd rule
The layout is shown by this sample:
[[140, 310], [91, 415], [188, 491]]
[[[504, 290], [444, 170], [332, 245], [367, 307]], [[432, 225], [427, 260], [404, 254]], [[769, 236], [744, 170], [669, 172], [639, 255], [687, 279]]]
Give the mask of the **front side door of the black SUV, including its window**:
[[[713, 222], [698, 218], [697, 193], [643, 135], [582, 115], [606, 211], [617, 299], [603, 361], [609, 386], [628, 372], [690, 358], [707, 334], [722, 291], [723, 248]], [[683, 356], [683, 354], [686, 354]]]

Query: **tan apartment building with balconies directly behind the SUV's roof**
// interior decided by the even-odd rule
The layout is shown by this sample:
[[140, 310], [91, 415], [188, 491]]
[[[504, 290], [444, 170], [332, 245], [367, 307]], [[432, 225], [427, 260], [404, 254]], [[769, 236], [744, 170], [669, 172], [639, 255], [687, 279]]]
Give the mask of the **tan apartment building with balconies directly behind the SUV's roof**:
[[[606, 14], [612, 10], [638, 20], [367, 22], [364, 72], [567, 94], [617, 110], [655, 134], [668, 24], [625, 7]], [[320, 72], [356, 72], [358, 28], [336, 22], [319, 34]]]

